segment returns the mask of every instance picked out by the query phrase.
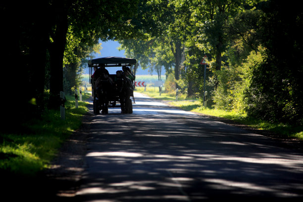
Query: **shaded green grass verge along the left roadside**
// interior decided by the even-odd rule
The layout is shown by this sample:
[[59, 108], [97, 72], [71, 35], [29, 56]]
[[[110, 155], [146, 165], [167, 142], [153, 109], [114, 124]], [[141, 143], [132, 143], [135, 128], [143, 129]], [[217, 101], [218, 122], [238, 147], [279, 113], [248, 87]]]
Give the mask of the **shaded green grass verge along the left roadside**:
[[86, 99], [75, 107], [73, 96], [66, 96], [65, 120], [59, 110], [46, 110], [41, 119], [22, 124], [18, 134], [0, 134], [0, 171], [21, 176], [35, 176], [47, 168], [61, 144], [80, 128], [82, 117], [88, 112]]

